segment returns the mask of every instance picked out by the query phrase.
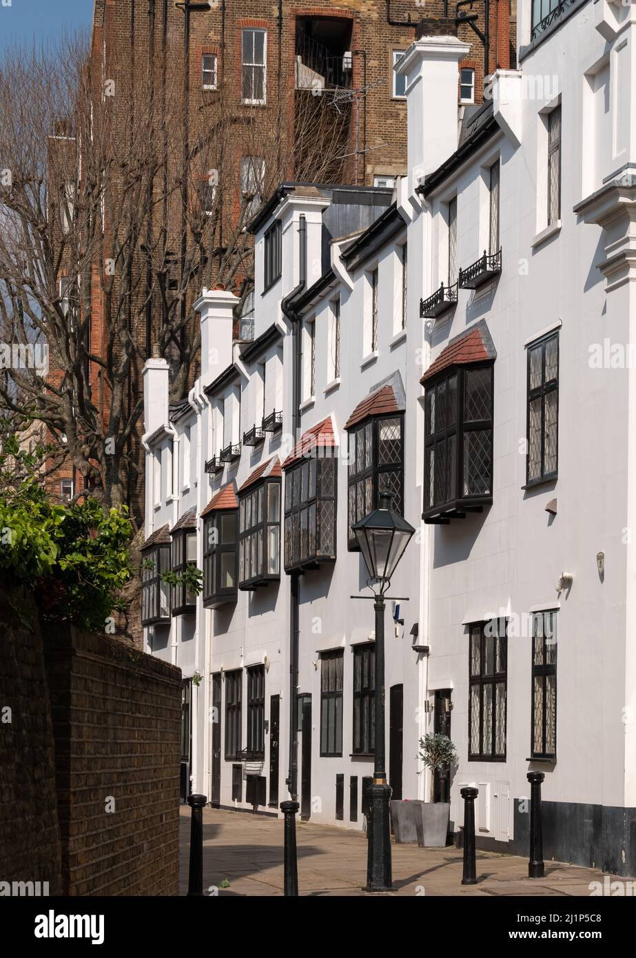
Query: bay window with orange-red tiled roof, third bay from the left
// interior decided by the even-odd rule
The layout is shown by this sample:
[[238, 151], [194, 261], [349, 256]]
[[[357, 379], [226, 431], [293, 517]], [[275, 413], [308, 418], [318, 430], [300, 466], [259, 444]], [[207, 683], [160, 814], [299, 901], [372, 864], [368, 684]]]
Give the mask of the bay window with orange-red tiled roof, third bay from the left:
[[219, 608], [238, 598], [238, 499], [232, 485], [216, 493], [203, 518], [203, 604]]

